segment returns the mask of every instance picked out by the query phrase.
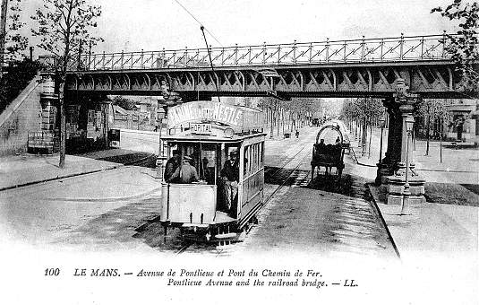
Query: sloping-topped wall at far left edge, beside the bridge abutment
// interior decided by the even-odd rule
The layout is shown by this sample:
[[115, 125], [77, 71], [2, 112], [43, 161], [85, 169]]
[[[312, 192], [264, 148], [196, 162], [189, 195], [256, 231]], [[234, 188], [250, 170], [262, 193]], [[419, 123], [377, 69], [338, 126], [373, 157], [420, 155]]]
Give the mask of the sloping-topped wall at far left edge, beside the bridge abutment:
[[39, 77], [0, 115], [0, 156], [27, 151], [28, 134], [41, 129]]

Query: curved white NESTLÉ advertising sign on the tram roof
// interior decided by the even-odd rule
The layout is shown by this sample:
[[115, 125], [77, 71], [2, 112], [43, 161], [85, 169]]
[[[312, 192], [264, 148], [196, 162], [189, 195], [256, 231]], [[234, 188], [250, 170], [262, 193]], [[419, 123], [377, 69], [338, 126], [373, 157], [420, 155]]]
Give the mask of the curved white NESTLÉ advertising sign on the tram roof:
[[263, 118], [259, 110], [210, 100], [187, 102], [168, 109], [168, 128], [211, 122], [248, 130], [260, 128]]

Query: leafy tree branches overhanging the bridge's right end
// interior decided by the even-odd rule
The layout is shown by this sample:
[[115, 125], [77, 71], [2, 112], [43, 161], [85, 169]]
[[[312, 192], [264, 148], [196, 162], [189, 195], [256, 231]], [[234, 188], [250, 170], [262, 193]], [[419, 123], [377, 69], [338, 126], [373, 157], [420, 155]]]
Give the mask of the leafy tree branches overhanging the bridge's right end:
[[453, 0], [446, 8], [435, 7], [431, 13], [441, 13], [450, 21], [458, 22], [458, 36], [448, 35], [449, 45], [446, 47], [457, 65], [461, 76], [459, 86], [472, 96], [479, 92], [479, 44], [477, 29], [479, 29], [479, 4], [464, 4], [462, 0]]

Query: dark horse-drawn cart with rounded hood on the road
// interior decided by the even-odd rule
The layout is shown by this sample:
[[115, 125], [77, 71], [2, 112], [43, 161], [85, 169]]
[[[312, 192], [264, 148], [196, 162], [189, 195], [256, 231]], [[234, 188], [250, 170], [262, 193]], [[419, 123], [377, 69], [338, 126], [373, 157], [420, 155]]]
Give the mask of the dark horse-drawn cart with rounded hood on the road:
[[[336, 144], [325, 144], [324, 139], [321, 139], [321, 134], [329, 129], [338, 133]], [[336, 168], [336, 173], [338, 177], [341, 178], [341, 174], [345, 168], [344, 155], [345, 149], [347, 148], [349, 148], [349, 143], [345, 143], [343, 134], [338, 126], [323, 126], [318, 135], [316, 135], [316, 144], [313, 144], [312, 147], [312, 179], [314, 179], [316, 168], [320, 170], [321, 166], [325, 168], [325, 174], [330, 174], [332, 167]]]

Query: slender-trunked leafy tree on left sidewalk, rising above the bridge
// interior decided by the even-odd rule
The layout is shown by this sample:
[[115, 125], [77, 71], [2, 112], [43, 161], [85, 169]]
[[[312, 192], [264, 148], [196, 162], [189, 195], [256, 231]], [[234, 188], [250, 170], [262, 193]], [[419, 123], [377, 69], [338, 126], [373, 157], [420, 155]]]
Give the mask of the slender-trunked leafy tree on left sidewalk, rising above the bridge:
[[81, 53], [83, 45], [95, 45], [103, 39], [91, 35], [97, 27], [96, 20], [101, 7], [90, 5], [86, 0], [43, 0], [31, 18], [38, 23], [32, 34], [40, 38], [39, 48], [57, 58], [56, 82], [60, 112], [60, 168], [64, 168], [66, 122], [64, 114], [64, 90], [66, 72], [70, 62]]

